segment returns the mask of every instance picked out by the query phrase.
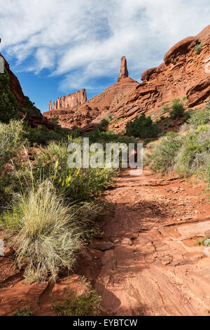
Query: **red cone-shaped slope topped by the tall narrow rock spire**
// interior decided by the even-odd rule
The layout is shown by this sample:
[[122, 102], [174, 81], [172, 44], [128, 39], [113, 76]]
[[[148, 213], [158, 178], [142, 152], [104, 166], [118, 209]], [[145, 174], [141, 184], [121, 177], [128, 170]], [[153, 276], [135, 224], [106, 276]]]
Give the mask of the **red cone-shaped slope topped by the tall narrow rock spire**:
[[[90, 100], [80, 105], [66, 106], [66, 98], [71, 95], [80, 95], [80, 100], [86, 98], [85, 90], [78, 91], [75, 94], [59, 98], [57, 103], [49, 103], [50, 111], [43, 115], [47, 118], [58, 118], [59, 124], [63, 128], [71, 128], [74, 125], [83, 128], [83, 131], [96, 126], [103, 118], [107, 117], [111, 109], [118, 104], [122, 104], [130, 92], [139, 85], [139, 83], [128, 77], [127, 62], [125, 57], [121, 59], [120, 77], [116, 84], [106, 88], [104, 92], [94, 96]], [[91, 124], [90, 124], [91, 123]]]

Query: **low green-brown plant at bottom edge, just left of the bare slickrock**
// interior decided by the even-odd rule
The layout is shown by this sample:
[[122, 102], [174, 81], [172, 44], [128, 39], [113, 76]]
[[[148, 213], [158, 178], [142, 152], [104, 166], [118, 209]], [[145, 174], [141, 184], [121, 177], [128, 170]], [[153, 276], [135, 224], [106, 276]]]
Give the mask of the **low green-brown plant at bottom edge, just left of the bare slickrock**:
[[94, 316], [99, 314], [100, 303], [100, 296], [89, 286], [89, 290], [78, 297], [69, 289], [66, 298], [54, 301], [52, 308], [57, 316]]

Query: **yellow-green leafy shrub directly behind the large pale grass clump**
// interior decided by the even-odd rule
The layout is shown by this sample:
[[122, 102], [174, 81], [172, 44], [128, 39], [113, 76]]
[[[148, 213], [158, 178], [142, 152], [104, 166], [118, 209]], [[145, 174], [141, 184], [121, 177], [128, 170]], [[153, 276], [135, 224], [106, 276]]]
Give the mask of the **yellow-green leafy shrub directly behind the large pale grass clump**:
[[[82, 143], [80, 138], [71, 142]], [[35, 182], [38, 182], [40, 178], [52, 180], [57, 194], [64, 194], [71, 199], [83, 201], [90, 199], [93, 195], [96, 196], [112, 182], [116, 171], [91, 167], [70, 169], [67, 162], [70, 155], [67, 146], [68, 144], [64, 142], [50, 143], [48, 147], [40, 147], [39, 152], [34, 153], [35, 161], [32, 171]], [[27, 176], [27, 183], [29, 183], [30, 169], [28, 173], [26, 170], [23, 173], [25, 177]]]

